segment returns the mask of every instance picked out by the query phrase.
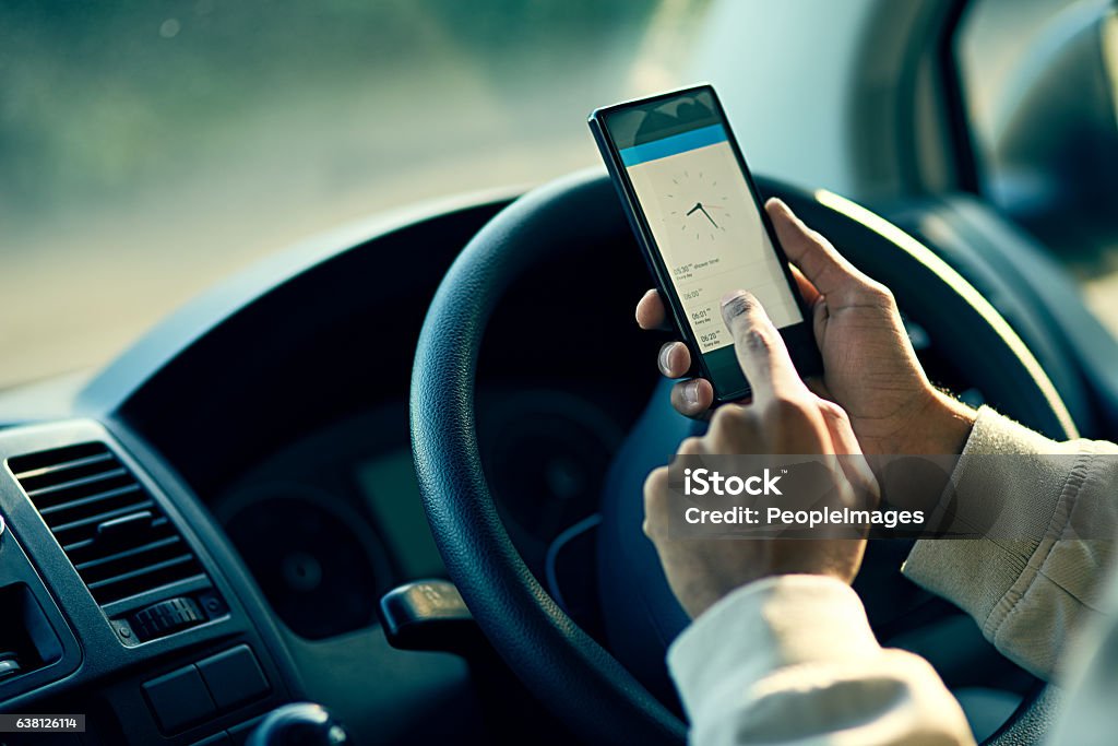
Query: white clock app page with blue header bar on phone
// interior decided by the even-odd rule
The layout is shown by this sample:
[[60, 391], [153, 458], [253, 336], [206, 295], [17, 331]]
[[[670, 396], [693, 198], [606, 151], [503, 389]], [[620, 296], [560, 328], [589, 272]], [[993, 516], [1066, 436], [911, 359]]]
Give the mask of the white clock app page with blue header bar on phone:
[[803, 321], [721, 124], [619, 152], [703, 353], [733, 342], [730, 291], [756, 295], [777, 328]]

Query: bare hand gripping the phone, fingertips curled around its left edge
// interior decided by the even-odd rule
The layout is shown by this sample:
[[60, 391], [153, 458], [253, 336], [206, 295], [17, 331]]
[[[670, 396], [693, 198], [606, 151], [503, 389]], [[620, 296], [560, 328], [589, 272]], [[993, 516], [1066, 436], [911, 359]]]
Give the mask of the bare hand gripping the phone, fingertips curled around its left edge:
[[[956, 454], [970, 434], [976, 413], [932, 386], [909, 341], [897, 301], [779, 199], [765, 206], [781, 251], [802, 270], [797, 286], [808, 308], [825, 375], [812, 389], [851, 417], [866, 453]], [[660, 289], [636, 308], [643, 329], [670, 330], [672, 311]], [[659, 367], [672, 387], [672, 406], [702, 416], [712, 385], [684, 342], [667, 342]], [[800, 374], [804, 368], [796, 366]]]

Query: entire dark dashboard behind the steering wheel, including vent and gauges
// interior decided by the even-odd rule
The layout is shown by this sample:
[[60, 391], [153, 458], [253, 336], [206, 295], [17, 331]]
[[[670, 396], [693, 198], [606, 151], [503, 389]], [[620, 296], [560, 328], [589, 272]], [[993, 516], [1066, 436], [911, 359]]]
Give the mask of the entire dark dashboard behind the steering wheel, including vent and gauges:
[[[0, 396], [0, 607], [19, 610], [0, 622], [2, 711], [85, 716], [84, 733], [28, 743], [244, 743], [303, 699], [358, 743], [482, 727], [463, 660], [391, 648], [377, 608], [445, 575], [411, 465], [413, 353], [446, 267], [508, 201], [296, 247], [93, 378]], [[543, 266], [485, 341], [479, 437], [486, 461], [513, 464], [490, 476], [541, 576], [655, 385], [643, 363], [659, 342], [635, 324], [570, 333], [631, 314], [646, 274], [627, 240], [586, 247], [609, 300], [572, 305], [553, 281], [585, 262]], [[601, 386], [604, 369], [626, 386]]]

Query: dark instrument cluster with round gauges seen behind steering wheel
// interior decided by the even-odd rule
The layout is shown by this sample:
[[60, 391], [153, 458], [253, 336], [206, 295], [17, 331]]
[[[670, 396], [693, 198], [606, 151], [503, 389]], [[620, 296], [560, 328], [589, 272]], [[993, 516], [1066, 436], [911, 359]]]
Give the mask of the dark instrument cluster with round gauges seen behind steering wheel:
[[[578, 386], [480, 394], [483, 459], [502, 518], [538, 576], [555, 541], [597, 511], [625, 413]], [[277, 450], [209, 502], [281, 621], [307, 640], [376, 623], [397, 585], [445, 577], [407, 440], [407, 406], [386, 403]], [[300, 526], [290, 541], [272, 537]]]

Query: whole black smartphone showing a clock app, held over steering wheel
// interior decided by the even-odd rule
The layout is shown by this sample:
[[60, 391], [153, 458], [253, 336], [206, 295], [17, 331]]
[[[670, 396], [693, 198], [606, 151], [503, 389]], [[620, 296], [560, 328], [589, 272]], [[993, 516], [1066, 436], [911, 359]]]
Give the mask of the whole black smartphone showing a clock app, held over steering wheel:
[[749, 396], [720, 301], [760, 300], [800, 376], [822, 370], [811, 313], [714, 89], [700, 85], [589, 117], [661, 298], [717, 403]]

